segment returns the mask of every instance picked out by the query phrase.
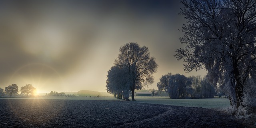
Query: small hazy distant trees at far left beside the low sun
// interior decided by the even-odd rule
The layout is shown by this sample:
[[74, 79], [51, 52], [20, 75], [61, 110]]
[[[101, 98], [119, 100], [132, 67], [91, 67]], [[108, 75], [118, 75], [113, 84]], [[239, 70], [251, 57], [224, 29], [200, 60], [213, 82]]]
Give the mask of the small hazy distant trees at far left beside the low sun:
[[20, 92], [20, 94], [29, 96], [29, 95], [35, 95], [36, 91], [37, 91], [36, 88], [34, 88], [32, 84], [26, 84], [25, 86], [20, 88], [20, 91], [18, 90], [17, 84], [12, 84], [5, 87], [5, 89], [0, 88], [0, 96], [5, 96], [5, 95], [13, 96], [15, 94], [18, 94], [18, 92]]

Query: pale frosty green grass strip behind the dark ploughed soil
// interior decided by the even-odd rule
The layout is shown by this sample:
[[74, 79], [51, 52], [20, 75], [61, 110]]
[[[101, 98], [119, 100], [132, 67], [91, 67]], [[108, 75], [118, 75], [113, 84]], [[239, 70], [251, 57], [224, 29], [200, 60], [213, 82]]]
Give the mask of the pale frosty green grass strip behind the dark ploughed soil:
[[[118, 100], [113, 97], [65, 97], [65, 96], [46, 96], [34, 98], [14, 98], [14, 99], [53, 99], [53, 100]], [[130, 98], [131, 99], [131, 98]], [[170, 99], [169, 97], [135, 97], [136, 102], [149, 104], [166, 104], [185, 107], [202, 107], [202, 108], [225, 108], [230, 106], [227, 98], [211, 99]]]

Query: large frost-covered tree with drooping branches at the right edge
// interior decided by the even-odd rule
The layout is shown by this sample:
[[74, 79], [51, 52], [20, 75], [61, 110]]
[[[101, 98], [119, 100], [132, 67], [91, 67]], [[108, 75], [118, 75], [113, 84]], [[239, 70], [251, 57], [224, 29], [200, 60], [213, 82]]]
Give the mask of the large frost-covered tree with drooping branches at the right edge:
[[182, 0], [186, 24], [182, 26], [184, 70], [206, 69], [214, 85], [230, 96], [232, 106], [242, 104], [246, 79], [256, 67], [256, 0]]

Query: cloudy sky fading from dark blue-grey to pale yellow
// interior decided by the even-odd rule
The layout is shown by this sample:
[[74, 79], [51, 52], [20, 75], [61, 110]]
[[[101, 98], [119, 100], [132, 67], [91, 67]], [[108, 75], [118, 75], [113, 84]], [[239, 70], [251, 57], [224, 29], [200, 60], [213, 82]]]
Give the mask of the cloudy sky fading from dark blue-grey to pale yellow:
[[0, 88], [106, 92], [107, 72], [129, 42], [147, 46], [159, 65], [144, 89], [157, 89], [168, 72], [204, 76], [186, 73], [174, 57], [185, 46], [180, 7], [179, 0], [0, 1]]

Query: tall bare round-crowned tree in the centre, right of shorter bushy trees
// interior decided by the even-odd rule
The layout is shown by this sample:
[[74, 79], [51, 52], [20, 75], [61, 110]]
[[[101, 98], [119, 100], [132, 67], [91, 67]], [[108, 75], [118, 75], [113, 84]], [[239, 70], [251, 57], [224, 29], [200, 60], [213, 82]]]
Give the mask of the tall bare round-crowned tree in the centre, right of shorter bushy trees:
[[134, 99], [134, 91], [138, 82], [144, 85], [152, 84], [154, 77], [152, 74], [156, 72], [158, 64], [154, 57], [150, 57], [148, 47], [142, 46], [136, 42], [130, 42], [120, 47], [120, 54], [115, 60], [115, 65], [120, 68], [127, 69], [128, 85], [132, 91], [132, 101]]

